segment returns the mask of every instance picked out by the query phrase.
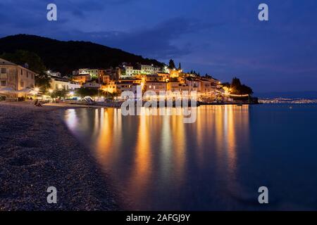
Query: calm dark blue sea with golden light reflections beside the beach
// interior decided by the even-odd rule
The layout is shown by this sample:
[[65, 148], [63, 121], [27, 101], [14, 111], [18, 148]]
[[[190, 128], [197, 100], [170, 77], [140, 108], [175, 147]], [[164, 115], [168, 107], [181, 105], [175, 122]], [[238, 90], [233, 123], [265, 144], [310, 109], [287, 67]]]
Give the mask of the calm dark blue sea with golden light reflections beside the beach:
[[65, 121], [131, 210], [317, 210], [317, 105], [204, 105], [189, 124], [76, 109]]

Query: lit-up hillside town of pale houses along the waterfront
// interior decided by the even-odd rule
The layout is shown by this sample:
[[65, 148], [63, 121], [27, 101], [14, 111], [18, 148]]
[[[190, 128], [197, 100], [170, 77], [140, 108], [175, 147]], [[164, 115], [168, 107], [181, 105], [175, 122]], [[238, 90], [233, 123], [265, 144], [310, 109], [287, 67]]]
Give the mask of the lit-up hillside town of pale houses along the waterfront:
[[136, 94], [137, 89], [154, 91], [155, 94], [170, 91], [190, 95], [195, 91], [201, 103], [252, 101], [251, 93], [236, 94], [232, 84], [223, 84], [211, 75], [185, 72], [180, 64], [175, 67], [173, 60], [163, 67], [121, 63], [111, 68], [78, 68], [71, 75], [46, 70], [49, 82], [46, 86], [37, 86], [37, 74], [28, 68], [27, 63], [17, 65], [0, 58], [0, 67], [0, 99], [3, 101], [25, 101], [29, 98], [83, 101], [86, 96], [97, 102], [120, 101], [123, 91]]

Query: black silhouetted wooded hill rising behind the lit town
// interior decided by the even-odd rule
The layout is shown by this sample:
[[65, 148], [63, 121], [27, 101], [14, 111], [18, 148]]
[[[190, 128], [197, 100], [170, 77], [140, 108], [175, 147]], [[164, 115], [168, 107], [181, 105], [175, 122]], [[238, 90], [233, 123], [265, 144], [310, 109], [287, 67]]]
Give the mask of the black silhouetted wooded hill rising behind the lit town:
[[123, 62], [163, 65], [157, 60], [87, 41], [58, 41], [27, 34], [0, 39], [0, 55], [18, 50], [36, 53], [46, 68], [63, 74], [70, 74], [77, 68], [108, 68]]

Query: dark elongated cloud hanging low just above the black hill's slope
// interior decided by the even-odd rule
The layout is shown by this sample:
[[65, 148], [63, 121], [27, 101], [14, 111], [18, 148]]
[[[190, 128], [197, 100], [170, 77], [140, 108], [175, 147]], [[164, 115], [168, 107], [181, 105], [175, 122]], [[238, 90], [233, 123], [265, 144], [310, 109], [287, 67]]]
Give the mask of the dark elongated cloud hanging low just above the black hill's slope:
[[[215, 24], [200, 23], [198, 20], [170, 18], [153, 27], [139, 28], [126, 32], [69, 32], [68, 39], [88, 39], [106, 46], [113, 46], [149, 58], [168, 59], [191, 53], [199, 45], [189, 41], [178, 44], [178, 39], [187, 34], [208, 30]], [[65, 38], [65, 33], [63, 33]]]

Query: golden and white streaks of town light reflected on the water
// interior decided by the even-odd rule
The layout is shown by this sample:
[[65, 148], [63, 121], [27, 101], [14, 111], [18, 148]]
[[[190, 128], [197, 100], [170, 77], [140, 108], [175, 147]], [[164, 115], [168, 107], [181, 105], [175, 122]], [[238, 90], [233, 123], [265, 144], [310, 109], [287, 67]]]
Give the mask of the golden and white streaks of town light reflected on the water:
[[201, 106], [193, 124], [184, 124], [180, 115], [153, 116], [145, 110], [151, 109], [129, 117], [113, 108], [68, 110], [66, 122], [70, 129], [89, 127], [97, 162], [112, 170], [133, 199], [146, 198], [158, 184], [182, 188], [190, 178], [189, 167], [198, 173], [215, 168], [226, 188], [240, 187], [237, 164], [249, 143], [249, 105]]

